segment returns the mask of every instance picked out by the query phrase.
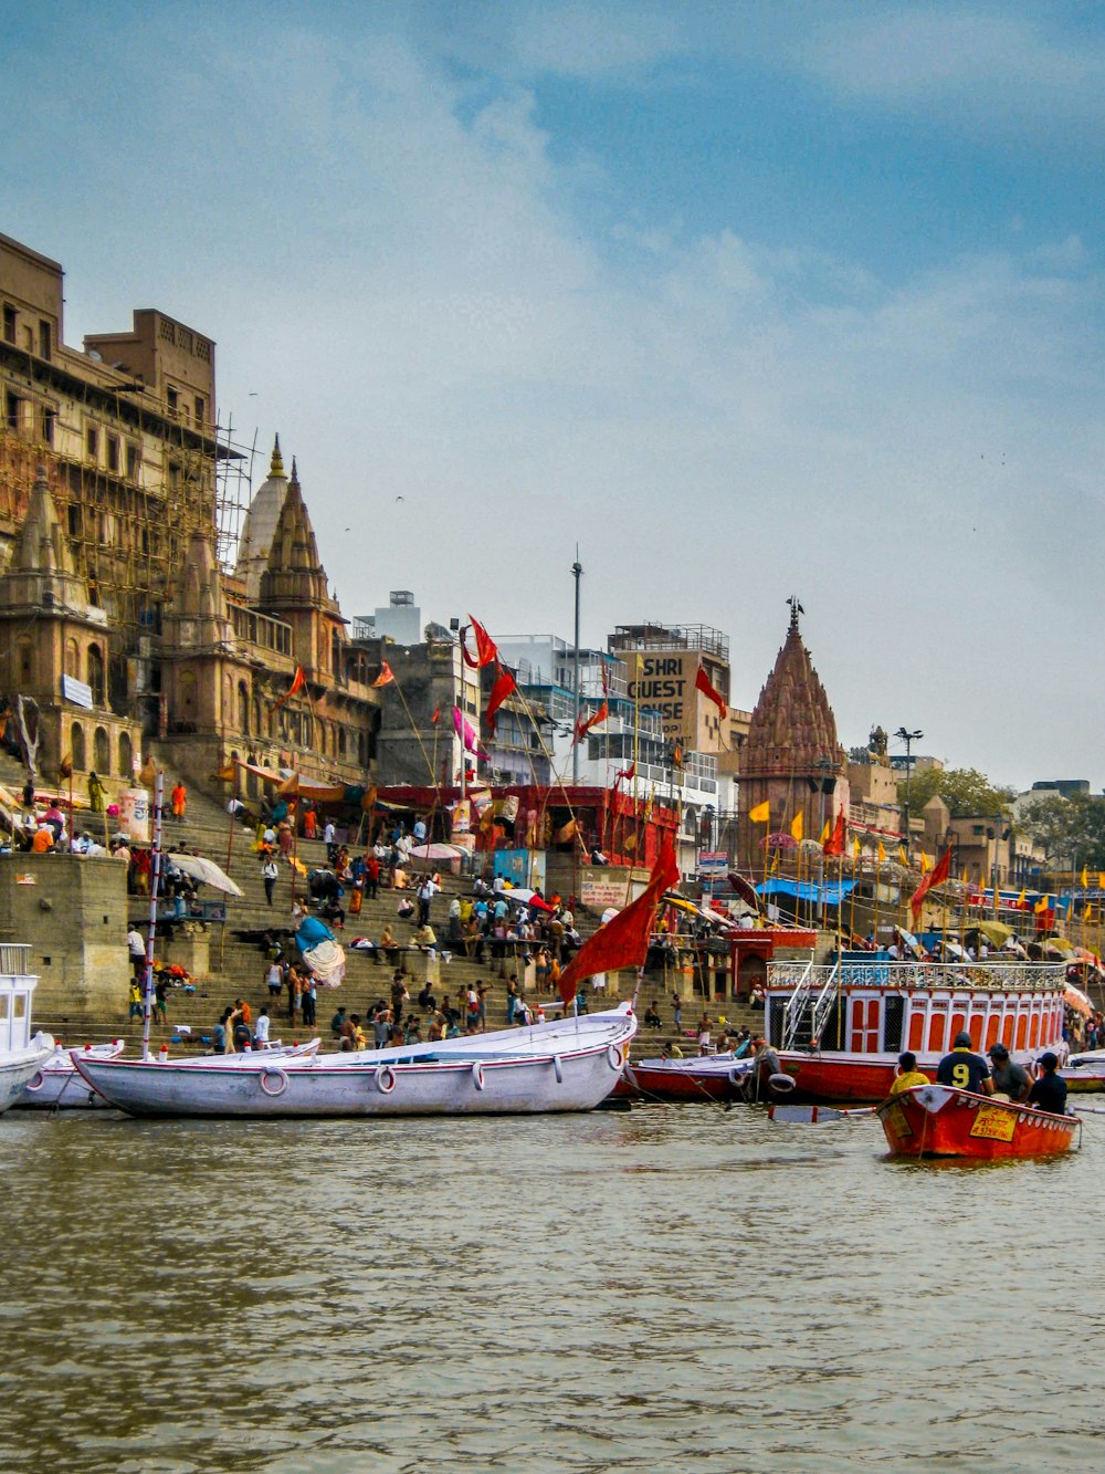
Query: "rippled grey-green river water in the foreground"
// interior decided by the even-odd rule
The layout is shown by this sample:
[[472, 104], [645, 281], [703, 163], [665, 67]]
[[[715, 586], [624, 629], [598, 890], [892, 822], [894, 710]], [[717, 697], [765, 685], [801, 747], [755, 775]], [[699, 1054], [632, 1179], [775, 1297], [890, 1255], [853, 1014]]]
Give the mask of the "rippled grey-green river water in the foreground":
[[1090, 1470], [1105, 1117], [0, 1117], [12, 1470]]

